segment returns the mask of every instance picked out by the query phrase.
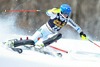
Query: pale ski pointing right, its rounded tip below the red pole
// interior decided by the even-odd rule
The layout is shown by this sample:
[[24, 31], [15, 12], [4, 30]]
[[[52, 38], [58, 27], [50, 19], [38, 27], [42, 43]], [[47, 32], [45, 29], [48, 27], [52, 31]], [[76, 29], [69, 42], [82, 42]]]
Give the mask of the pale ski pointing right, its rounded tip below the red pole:
[[55, 50], [50, 50], [49, 48], [51, 48], [51, 47], [49, 47], [49, 48], [44, 47], [44, 48], [41, 48], [41, 49], [36, 48], [35, 46], [30, 46], [30, 45], [24, 45], [24, 47], [26, 48], [26, 50], [33, 50], [33, 51], [36, 51], [36, 52], [39, 52], [39, 53], [43, 53], [45, 55], [51, 55], [51, 56], [54, 56], [54, 57], [62, 57], [63, 56], [61, 52], [56, 52]]

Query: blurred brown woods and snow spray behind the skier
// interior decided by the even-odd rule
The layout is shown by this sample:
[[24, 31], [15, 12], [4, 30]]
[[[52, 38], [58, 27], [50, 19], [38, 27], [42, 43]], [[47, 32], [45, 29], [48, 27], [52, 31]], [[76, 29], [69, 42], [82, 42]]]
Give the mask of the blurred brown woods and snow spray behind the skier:
[[[93, 40], [100, 40], [100, 0], [0, 0], [1, 33], [33, 35], [49, 17], [46, 10], [67, 3], [72, 7], [71, 18]], [[39, 12], [14, 12], [8, 10], [41, 10]], [[60, 31], [63, 38], [80, 39], [70, 26]]]

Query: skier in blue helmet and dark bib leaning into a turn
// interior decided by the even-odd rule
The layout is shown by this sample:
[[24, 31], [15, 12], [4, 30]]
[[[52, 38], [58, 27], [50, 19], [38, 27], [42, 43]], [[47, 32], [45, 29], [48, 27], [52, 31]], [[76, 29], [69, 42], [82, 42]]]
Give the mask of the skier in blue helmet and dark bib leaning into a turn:
[[[17, 47], [20, 45], [31, 44], [42, 48], [49, 45], [50, 42], [53, 42], [53, 40], [48, 38], [48, 36], [51, 34], [53, 34], [54, 36], [57, 35], [58, 31], [61, 30], [61, 28], [66, 24], [73, 27], [73, 29], [75, 29], [79, 33], [82, 39], [86, 39], [86, 34], [84, 34], [82, 29], [70, 18], [71, 12], [72, 9], [68, 4], [62, 4], [60, 8], [52, 8], [47, 10], [46, 14], [50, 17], [50, 19], [35, 32], [32, 38], [30, 38], [31, 40], [17, 40], [9, 42], [8, 46]], [[37, 43], [41, 38], [42, 41]], [[45, 44], [47, 42], [49, 42], [49, 44]]]

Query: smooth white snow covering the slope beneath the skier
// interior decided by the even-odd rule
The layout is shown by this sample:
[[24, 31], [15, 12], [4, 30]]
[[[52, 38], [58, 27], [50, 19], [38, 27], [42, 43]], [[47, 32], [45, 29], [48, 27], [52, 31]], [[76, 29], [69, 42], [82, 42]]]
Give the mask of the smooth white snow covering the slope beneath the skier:
[[[20, 36], [9, 35], [2, 41]], [[67, 50], [68, 54], [62, 53], [62, 58], [31, 50], [24, 50], [22, 54], [18, 54], [0, 47], [0, 67], [100, 67], [100, 48], [89, 41], [60, 39], [51, 45]]]

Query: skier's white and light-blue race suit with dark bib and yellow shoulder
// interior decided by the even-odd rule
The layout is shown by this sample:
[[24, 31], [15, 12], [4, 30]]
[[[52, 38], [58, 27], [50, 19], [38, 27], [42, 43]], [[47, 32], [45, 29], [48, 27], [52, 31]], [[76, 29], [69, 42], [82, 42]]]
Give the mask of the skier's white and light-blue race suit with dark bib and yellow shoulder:
[[73, 27], [78, 33], [82, 32], [82, 29], [70, 18], [64, 18], [61, 15], [61, 11], [59, 8], [53, 8], [47, 10], [46, 14], [50, 17], [50, 19], [38, 29], [34, 35], [32, 36], [32, 40], [36, 43], [40, 38], [46, 40], [48, 35], [56, 34], [59, 30], [66, 24]]

